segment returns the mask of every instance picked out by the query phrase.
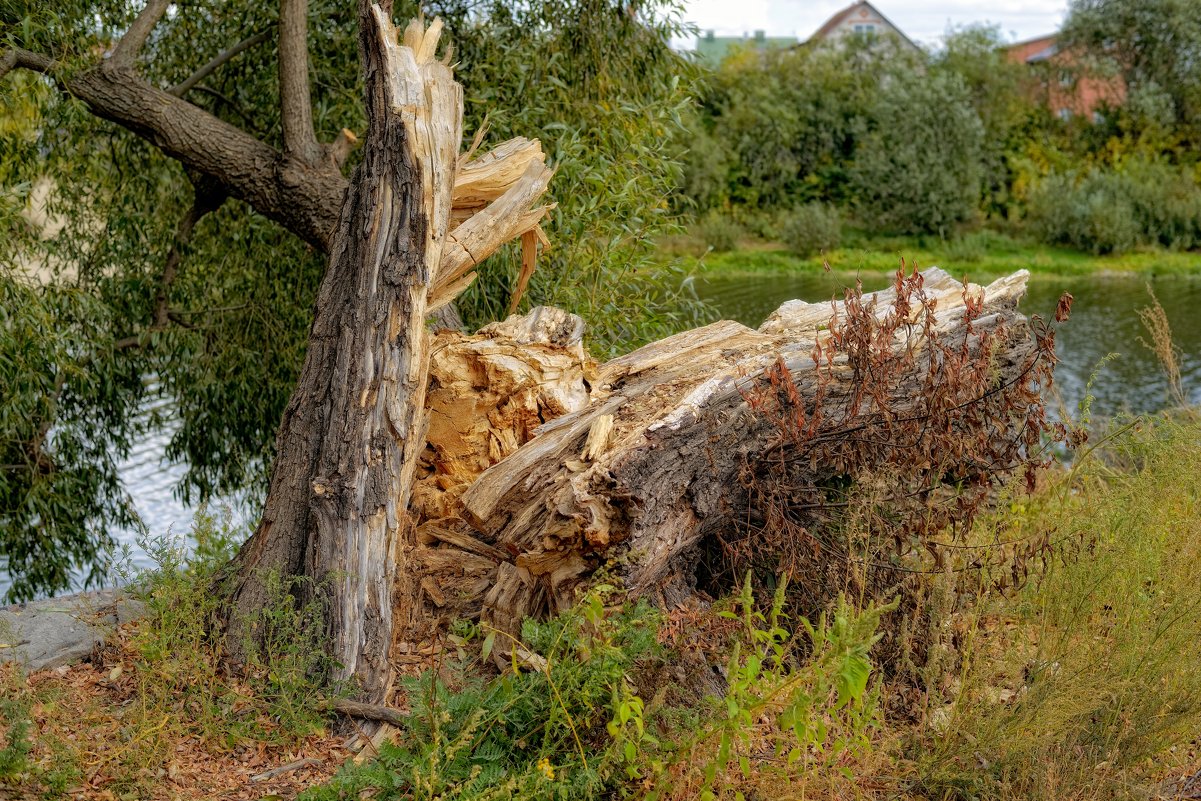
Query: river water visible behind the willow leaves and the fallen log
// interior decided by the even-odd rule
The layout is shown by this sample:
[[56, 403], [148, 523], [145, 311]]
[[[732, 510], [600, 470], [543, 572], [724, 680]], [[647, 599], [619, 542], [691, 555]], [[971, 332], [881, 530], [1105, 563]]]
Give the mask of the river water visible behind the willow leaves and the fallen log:
[[[697, 292], [716, 306], [721, 316], [758, 327], [785, 300], [817, 301], [835, 294], [842, 297], [842, 286], [847, 280], [846, 276], [808, 273], [717, 275], [698, 280]], [[889, 276], [865, 276], [864, 289], [880, 289], [890, 281]], [[1075, 413], [1086, 395], [1089, 377], [1110, 353], [1118, 355], [1104, 364], [1092, 388], [1094, 417], [1149, 413], [1165, 406], [1165, 373], [1155, 357], [1139, 341], [1140, 336], [1147, 337], [1139, 319], [1139, 309], [1151, 300], [1148, 283], [1171, 322], [1181, 351], [1184, 390], [1194, 404], [1201, 404], [1201, 279], [1159, 277], [1148, 281], [1124, 275], [1035, 276], [1021, 306], [1027, 315], [1038, 313], [1050, 319], [1063, 292], [1071, 292], [1076, 299], [1071, 319], [1060, 328], [1056, 340], [1060, 358], [1056, 369], [1057, 391], [1069, 412]], [[169, 438], [171, 431], [147, 437], [120, 466], [125, 486], [151, 537], [186, 534], [195, 514], [175, 496], [185, 466], [162, 459]], [[129, 548], [135, 567], [151, 563], [137, 542], [137, 532], [119, 531], [114, 538], [119, 545]], [[7, 576], [0, 569], [0, 597], [7, 586]]]

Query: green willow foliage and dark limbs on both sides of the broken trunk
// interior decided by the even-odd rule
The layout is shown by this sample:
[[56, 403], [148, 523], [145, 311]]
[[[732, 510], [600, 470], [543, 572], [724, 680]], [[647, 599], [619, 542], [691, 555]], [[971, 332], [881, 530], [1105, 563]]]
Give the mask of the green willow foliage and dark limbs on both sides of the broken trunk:
[[[455, 48], [464, 147], [486, 118], [485, 149], [537, 137], [556, 167], [556, 246], [522, 303], [588, 313], [607, 348], [679, 327], [670, 287], [637, 270], [665, 222], [688, 95], [674, 2], [420, 5]], [[66, 587], [133, 525], [116, 464], [165, 423], [144, 412], [159, 400], [185, 500], [262, 500], [364, 160], [359, 23], [333, 0], [0, 4], [12, 598]], [[459, 300], [470, 323], [504, 316], [521, 264], [519, 245], [489, 259]]]

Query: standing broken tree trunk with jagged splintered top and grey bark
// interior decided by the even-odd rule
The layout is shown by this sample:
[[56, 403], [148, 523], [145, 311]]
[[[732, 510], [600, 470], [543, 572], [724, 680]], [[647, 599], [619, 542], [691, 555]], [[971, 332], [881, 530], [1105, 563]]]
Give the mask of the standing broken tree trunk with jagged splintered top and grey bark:
[[[550, 169], [525, 139], [474, 162], [459, 155], [462, 90], [435, 60], [438, 20], [428, 30], [412, 23], [399, 41], [389, 14], [363, 2], [359, 31], [363, 165], [330, 247], [262, 521], [233, 564], [227, 642], [235, 658], [256, 647], [276, 576], [323, 603], [339, 677], [378, 701], [394, 626], [423, 623], [407, 508], [425, 444], [424, 319], [465, 288], [474, 264], [537, 227], [546, 207], [531, 207]], [[476, 213], [453, 215], [455, 204]]]

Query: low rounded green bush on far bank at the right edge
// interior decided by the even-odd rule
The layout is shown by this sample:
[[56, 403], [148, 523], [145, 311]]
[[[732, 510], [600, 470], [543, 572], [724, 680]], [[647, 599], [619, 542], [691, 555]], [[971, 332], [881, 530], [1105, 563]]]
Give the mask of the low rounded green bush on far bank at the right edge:
[[1052, 173], [1030, 193], [1029, 220], [1042, 240], [1095, 253], [1191, 250], [1201, 245], [1201, 186], [1163, 160]]

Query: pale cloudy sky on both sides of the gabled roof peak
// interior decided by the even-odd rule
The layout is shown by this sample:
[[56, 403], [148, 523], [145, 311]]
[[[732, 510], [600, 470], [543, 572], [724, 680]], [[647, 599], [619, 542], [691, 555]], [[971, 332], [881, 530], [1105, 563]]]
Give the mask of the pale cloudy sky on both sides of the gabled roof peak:
[[[853, 0], [686, 0], [686, 18], [718, 36], [764, 30], [769, 36], [808, 36]], [[937, 44], [949, 25], [999, 23], [1008, 41], [1051, 34], [1066, 0], [872, 0], [909, 38]]]

